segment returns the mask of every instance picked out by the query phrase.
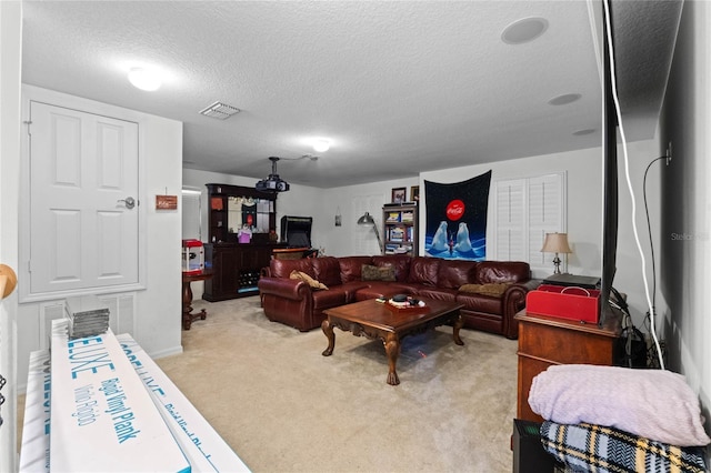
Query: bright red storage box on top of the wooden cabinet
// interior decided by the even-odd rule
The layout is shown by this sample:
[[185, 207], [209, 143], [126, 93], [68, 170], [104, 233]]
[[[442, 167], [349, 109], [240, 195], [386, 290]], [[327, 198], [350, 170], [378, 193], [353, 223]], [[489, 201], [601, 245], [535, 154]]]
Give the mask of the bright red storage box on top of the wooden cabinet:
[[598, 323], [599, 303], [595, 289], [541, 284], [525, 296], [525, 312]]

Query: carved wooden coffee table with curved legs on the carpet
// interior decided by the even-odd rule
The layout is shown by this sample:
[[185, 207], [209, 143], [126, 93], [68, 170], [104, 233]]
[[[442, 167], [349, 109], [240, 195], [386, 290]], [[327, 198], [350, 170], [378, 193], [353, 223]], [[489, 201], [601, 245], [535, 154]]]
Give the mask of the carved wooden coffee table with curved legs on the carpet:
[[356, 336], [382, 340], [388, 355], [388, 384], [400, 384], [395, 363], [400, 354], [400, 341], [405, 336], [452, 322], [454, 343], [464, 344], [459, 338], [459, 331], [463, 325], [459, 311], [464, 305], [430, 299], [422, 299], [422, 301], [425, 306], [415, 309], [395, 309], [374, 299], [327, 309], [323, 311], [327, 319], [321, 323], [321, 330], [329, 339], [329, 346], [321, 354], [330, 356], [333, 353], [334, 326], [352, 332]]

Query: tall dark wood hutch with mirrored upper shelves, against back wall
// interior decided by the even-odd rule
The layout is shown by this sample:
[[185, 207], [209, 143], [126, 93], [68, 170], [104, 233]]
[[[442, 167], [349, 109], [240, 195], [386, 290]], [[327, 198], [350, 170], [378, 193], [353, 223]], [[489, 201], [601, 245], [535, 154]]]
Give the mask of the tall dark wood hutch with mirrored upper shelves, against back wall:
[[[269, 265], [276, 242], [277, 194], [229, 184], [208, 188], [208, 243], [204, 265], [212, 279], [204, 282], [202, 299], [210, 302], [259, 293], [257, 282]], [[251, 233], [240, 243], [240, 229]]]

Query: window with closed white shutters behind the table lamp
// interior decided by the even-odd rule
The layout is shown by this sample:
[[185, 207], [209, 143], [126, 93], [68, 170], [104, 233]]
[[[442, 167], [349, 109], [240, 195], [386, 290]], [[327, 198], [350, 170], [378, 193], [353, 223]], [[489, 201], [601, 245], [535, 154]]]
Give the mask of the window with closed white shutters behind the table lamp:
[[491, 260], [527, 261], [532, 271], [550, 271], [541, 253], [545, 233], [565, 231], [565, 172], [493, 183]]

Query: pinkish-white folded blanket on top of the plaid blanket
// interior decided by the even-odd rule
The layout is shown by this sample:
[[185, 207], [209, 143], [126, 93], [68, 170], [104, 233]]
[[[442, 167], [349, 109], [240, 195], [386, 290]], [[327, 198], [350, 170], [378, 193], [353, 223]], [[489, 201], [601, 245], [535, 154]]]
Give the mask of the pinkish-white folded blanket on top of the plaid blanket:
[[697, 395], [671, 371], [554, 365], [533, 379], [529, 404], [560, 424], [605, 425], [679, 446], [711, 443]]

